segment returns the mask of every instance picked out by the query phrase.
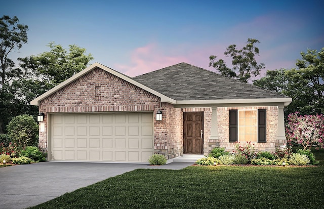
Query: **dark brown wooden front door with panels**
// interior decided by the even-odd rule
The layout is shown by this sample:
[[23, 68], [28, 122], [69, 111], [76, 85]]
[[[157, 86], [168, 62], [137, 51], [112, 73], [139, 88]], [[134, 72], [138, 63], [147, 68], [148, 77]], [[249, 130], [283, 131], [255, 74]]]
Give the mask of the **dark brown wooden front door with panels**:
[[183, 153], [204, 153], [204, 112], [183, 113]]

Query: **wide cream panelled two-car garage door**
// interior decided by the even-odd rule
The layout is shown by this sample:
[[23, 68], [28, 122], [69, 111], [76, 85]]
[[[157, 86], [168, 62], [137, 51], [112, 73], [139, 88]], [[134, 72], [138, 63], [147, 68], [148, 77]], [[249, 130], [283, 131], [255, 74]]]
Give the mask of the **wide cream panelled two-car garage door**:
[[52, 114], [51, 160], [147, 162], [152, 113]]

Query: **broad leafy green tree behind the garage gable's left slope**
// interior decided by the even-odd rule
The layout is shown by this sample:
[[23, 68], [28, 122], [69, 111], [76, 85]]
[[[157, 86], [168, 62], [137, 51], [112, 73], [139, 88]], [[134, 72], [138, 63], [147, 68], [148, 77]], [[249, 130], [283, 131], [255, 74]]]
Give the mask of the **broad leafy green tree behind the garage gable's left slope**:
[[68, 50], [54, 42], [48, 46], [51, 48], [49, 52], [24, 59], [24, 66], [34, 68], [37, 75], [51, 84], [48, 88], [85, 69], [93, 59], [91, 54], [85, 55], [85, 48], [76, 45], [69, 45]]

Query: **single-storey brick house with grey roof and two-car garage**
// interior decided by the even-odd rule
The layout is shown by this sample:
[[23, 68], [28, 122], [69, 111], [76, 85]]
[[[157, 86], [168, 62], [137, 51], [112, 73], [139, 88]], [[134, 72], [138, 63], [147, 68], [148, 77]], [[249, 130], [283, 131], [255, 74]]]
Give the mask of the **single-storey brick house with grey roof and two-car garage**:
[[187, 63], [136, 77], [95, 63], [31, 104], [44, 115], [39, 146], [49, 160], [143, 163], [235, 142], [274, 151], [286, 144], [291, 101]]

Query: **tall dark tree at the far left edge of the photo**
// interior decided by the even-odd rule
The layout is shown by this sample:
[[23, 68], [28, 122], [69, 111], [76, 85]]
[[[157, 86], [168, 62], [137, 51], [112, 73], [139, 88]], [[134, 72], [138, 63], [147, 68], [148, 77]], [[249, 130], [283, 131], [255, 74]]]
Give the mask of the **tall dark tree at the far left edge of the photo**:
[[9, 58], [27, 43], [28, 26], [18, 24], [19, 19], [4, 15], [0, 18], [0, 134], [5, 133], [5, 125], [12, 116], [10, 105], [14, 96], [10, 92], [10, 82], [24, 76], [20, 68]]

